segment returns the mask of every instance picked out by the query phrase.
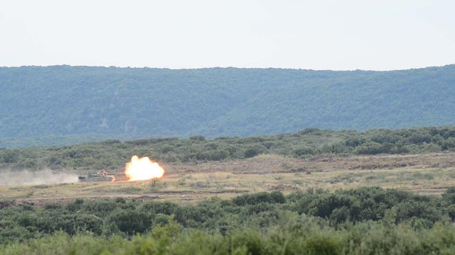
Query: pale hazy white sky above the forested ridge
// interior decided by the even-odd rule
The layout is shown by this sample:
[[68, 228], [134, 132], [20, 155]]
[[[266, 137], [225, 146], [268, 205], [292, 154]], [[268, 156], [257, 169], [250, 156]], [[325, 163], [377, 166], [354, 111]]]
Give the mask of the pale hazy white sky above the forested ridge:
[[455, 63], [455, 1], [0, 1], [0, 66]]

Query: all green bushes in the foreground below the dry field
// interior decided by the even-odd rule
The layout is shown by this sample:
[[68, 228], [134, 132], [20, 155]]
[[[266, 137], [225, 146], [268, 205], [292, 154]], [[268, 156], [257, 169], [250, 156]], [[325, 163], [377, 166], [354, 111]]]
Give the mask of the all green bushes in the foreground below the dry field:
[[453, 254], [455, 188], [255, 193], [198, 205], [82, 200], [0, 210], [1, 254]]

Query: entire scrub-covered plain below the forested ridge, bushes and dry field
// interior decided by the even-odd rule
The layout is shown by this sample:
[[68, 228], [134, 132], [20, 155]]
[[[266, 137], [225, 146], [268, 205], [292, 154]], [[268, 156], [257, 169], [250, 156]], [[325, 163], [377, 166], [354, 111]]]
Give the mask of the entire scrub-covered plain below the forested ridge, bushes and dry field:
[[[1, 149], [2, 173], [24, 181], [0, 186], [0, 253], [454, 254], [452, 131]], [[127, 181], [134, 151], [156, 156], [164, 176]], [[33, 183], [24, 167], [117, 178]]]

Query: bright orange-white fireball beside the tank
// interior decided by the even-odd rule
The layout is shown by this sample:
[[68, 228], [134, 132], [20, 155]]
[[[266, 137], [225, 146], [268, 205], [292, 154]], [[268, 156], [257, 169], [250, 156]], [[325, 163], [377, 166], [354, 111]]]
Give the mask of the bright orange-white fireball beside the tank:
[[149, 157], [137, 157], [134, 155], [131, 162], [127, 163], [125, 174], [128, 181], [144, 181], [155, 178], [161, 178], [164, 174], [164, 169]]

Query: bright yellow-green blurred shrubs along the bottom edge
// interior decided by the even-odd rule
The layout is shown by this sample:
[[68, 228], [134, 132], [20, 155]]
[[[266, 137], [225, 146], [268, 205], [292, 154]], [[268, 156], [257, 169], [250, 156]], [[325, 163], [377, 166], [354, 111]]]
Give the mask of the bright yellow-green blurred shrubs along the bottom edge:
[[238, 229], [222, 235], [181, 232], [176, 223], [132, 239], [75, 237], [57, 232], [41, 239], [0, 246], [9, 254], [454, 254], [455, 228], [437, 225], [416, 231], [407, 225], [365, 223], [338, 230], [311, 218], [293, 219], [266, 232]]

